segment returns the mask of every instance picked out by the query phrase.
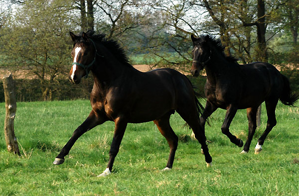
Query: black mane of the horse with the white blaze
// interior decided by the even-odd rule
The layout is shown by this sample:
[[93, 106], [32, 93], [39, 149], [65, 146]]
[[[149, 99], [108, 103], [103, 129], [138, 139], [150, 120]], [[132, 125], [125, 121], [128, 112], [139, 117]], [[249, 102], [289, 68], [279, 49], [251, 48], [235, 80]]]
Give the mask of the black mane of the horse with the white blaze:
[[[80, 33], [81, 42], [82, 40], [82, 34]], [[119, 61], [121, 61], [124, 65], [132, 67], [132, 65], [129, 63], [129, 58], [126, 55], [125, 50], [120, 46], [120, 44], [112, 39], [107, 39], [105, 34], [95, 34], [95, 31], [88, 30], [86, 32], [87, 36], [90, 37], [95, 43], [101, 43], [103, 44]]]

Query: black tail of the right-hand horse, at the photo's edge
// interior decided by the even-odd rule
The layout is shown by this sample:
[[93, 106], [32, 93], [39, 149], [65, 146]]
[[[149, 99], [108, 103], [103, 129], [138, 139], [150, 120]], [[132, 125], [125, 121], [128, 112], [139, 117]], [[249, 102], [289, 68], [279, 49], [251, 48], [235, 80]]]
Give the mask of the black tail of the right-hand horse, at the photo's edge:
[[283, 77], [283, 80], [284, 80], [284, 87], [283, 87], [283, 92], [280, 95], [279, 99], [285, 105], [291, 105], [291, 106], [296, 107], [294, 104], [299, 99], [299, 95], [296, 94], [296, 93], [294, 93], [294, 94], [292, 93], [289, 79], [284, 75], [282, 75], [282, 77]]

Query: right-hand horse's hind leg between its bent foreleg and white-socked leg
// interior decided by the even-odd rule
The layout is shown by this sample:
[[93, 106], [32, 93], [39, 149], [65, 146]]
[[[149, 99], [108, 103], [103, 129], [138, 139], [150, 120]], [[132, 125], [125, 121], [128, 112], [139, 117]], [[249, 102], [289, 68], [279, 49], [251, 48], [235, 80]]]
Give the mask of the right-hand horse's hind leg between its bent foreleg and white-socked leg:
[[258, 107], [247, 108], [247, 118], [248, 118], [248, 137], [244, 145], [243, 151], [241, 154], [247, 153], [253, 138], [253, 135], [257, 128], [257, 111]]

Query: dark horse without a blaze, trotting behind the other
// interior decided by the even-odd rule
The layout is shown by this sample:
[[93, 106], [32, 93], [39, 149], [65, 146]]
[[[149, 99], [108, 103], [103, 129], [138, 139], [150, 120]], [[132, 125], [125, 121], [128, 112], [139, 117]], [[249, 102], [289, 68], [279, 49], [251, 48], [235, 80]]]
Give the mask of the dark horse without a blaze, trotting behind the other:
[[206, 119], [218, 108], [226, 109], [224, 122], [221, 126], [232, 143], [239, 147], [243, 141], [229, 132], [229, 126], [238, 109], [247, 108], [249, 124], [248, 138], [241, 153], [249, 151], [250, 143], [257, 128], [256, 114], [259, 105], [265, 101], [268, 121], [267, 128], [258, 139], [255, 153], [262, 150], [262, 145], [276, 125], [275, 109], [278, 100], [285, 105], [292, 105], [299, 96], [292, 94], [289, 80], [273, 65], [255, 62], [239, 65], [231, 56], [225, 56], [224, 47], [219, 39], [209, 35], [194, 37], [193, 62], [191, 73], [198, 76], [205, 68], [207, 81], [205, 84], [206, 106], [200, 117], [200, 124], [204, 128]]

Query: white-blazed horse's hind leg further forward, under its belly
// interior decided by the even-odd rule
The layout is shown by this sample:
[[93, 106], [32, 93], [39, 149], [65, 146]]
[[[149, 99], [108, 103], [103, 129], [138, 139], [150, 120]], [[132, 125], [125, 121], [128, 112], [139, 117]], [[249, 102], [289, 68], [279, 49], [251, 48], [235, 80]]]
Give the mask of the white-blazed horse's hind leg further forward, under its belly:
[[167, 161], [167, 165], [163, 170], [169, 170], [172, 168], [174, 161], [174, 155], [177, 148], [178, 137], [173, 132], [170, 124], [169, 118], [171, 113], [167, 113], [162, 116], [160, 119], [154, 120], [153, 122], [157, 125], [160, 133], [166, 138], [168, 145], [170, 147], [170, 153]]

